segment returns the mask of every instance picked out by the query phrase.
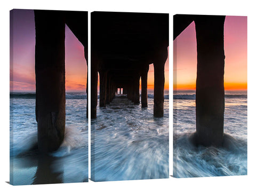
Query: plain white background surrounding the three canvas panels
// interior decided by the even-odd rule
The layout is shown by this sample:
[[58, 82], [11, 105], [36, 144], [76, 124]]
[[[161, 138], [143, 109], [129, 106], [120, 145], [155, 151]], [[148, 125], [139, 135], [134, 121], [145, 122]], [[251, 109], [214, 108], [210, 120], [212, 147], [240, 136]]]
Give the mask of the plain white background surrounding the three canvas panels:
[[[172, 93], [172, 15], [219, 14], [243, 15], [248, 18], [248, 175], [189, 179], [155, 179], [88, 183], [65, 183], [34, 186], [11, 186], [9, 181], [9, 11], [12, 9], [48, 9], [70, 11], [121, 11], [154, 12], [170, 14], [170, 93]], [[255, 169], [255, 55], [256, 17], [253, 1], [187, 1], [161, 0], [129, 1], [2, 1], [1, 2], [1, 51], [0, 51], [0, 190], [1, 191], [256, 191]], [[90, 16], [89, 16], [90, 18]], [[90, 31], [90, 21], [89, 21]], [[90, 47], [90, 32], [89, 32]], [[90, 55], [90, 50], [89, 50]], [[89, 60], [90, 62], [90, 60]], [[172, 97], [170, 97], [172, 98]], [[90, 173], [89, 173], [90, 174]], [[172, 99], [170, 99], [170, 175], [172, 174]]]

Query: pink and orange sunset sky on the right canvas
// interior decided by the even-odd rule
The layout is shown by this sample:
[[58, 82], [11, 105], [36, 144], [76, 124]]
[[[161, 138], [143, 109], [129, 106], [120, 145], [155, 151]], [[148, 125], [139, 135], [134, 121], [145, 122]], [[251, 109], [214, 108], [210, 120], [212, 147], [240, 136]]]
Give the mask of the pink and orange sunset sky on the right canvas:
[[[192, 22], [173, 43], [174, 89], [194, 90], [197, 66], [195, 23]], [[225, 90], [247, 90], [247, 17], [226, 17], [224, 49]]]

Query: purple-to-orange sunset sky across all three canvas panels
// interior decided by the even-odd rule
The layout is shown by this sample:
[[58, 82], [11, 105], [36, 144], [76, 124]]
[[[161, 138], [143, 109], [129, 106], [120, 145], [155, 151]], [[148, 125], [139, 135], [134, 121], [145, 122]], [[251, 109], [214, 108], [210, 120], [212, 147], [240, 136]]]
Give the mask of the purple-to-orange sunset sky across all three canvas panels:
[[[13, 15], [12, 91], [35, 92], [35, 21], [33, 10]], [[224, 32], [225, 90], [247, 89], [247, 18], [227, 16]], [[196, 32], [192, 22], [174, 41], [174, 89], [196, 88]], [[85, 91], [87, 65], [83, 45], [66, 26], [66, 90]], [[176, 64], [175, 64], [176, 63]], [[13, 85], [13, 86], [12, 86]], [[154, 67], [149, 66], [148, 89], [154, 89]], [[169, 89], [169, 57], [165, 63], [165, 89]]]

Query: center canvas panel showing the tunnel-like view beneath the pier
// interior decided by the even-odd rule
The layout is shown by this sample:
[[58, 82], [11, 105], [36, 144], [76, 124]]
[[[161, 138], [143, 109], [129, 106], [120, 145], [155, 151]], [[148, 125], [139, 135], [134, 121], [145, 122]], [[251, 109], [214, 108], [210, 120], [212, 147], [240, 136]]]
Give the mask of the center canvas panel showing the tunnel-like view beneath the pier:
[[169, 178], [169, 14], [91, 13], [91, 179]]

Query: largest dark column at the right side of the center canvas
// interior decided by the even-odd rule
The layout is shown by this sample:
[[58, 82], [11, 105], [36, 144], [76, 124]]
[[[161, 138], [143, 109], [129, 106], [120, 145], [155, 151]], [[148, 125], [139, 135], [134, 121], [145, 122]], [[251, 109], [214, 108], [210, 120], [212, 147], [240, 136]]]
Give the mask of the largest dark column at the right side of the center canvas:
[[164, 65], [167, 55], [166, 47], [158, 50], [154, 57], [154, 117], [164, 116]]

